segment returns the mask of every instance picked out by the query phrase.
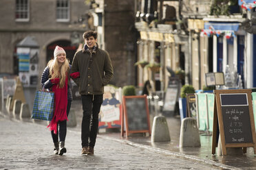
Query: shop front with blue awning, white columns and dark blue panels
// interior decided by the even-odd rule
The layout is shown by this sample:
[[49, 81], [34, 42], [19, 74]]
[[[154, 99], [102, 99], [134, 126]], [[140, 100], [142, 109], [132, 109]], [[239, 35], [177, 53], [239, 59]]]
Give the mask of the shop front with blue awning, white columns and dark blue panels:
[[[246, 32], [240, 25], [239, 20], [233, 22], [212, 20], [204, 23], [204, 29], [200, 33], [200, 36], [208, 37], [209, 40], [212, 38], [213, 72], [224, 73], [227, 88], [237, 88], [239, 75], [242, 78], [243, 88], [246, 87], [246, 51], [244, 50]], [[227, 77], [228, 74], [232, 76]], [[227, 81], [230, 81], [228, 86]]]

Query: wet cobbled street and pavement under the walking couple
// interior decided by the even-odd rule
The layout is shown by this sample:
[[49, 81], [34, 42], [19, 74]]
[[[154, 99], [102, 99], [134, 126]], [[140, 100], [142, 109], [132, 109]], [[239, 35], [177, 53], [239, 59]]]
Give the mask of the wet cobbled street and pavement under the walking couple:
[[[76, 114], [77, 125], [76, 127], [68, 127], [66, 145], [68, 148], [72, 148], [72, 151], [69, 151], [69, 154], [63, 156], [63, 158], [52, 156], [52, 150], [49, 149], [49, 147], [52, 147], [52, 138], [50, 132], [45, 128], [47, 121], [36, 121], [36, 123], [31, 123], [31, 119], [25, 120], [25, 122], [15, 121], [11, 114], [2, 112], [0, 116], [0, 153], [2, 155], [0, 157], [0, 169], [5, 168], [5, 166], [7, 169], [22, 169], [22, 165], [25, 164], [30, 166], [29, 169], [36, 169], [36, 166], [40, 166], [42, 169], [47, 169], [47, 166], [53, 167], [54, 169], [61, 169], [57, 165], [52, 165], [54, 161], [61, 162], [61, 164], [67, 166], [66, 169], [83, 169], [83, 165], [87, 165], [92, 169], [256, 169], [256, 158], [251, 150], [247, 154], [239, 156], [212, 155], [211, 136], [209, 135], [200, 134], [201, 147], [179, 147], [180, 117], [167, 117], [171, 142], [151, 143], [150, 136], [141, 135], [122, 138], [120, 136], [120, 130], [100, 129], [95, 148], [96, 156], [92, 158], [88, 156], [83, 157], [79, 155], [81, 150], [81, 101], [75, 100], [72, 102], [72, 111]], [[151, 123], [152, 120], [153, 116], [151, 115]], [[18, 127], [17, 123], [19, 124]], [[17, 128], [22, 127], [24, 129], [23, 131], [31, 128], [39, 129], [40, 133], [36, 133], [34, 138], [40, 138], [40, 136], [45, 137], [39, 143], [36, 142], [37, 144], [32, 143], [29, 136], [25, 137], [32, 132], [30, 130], [28, 132], [22, 131], [22, 136], [19, 136], [15, 132], [15, 129], [13, 132], [10, 130], [12, 128], [8, 129], [8, 127], [15, 128], [15, 126]], [[5, 132], [6, 129], [10, 130], [10, 132]], [[15, 135], [19, 137], [17, 138]], [[16, 138], [16, 142], [13, 141], [13, 138]], [[21, 142], [19, 138], [21, 138]], [[30, 142], [28, 143], [28, 141]], [[20, 144], [21, 146], [19, 147]], [[23, 160], [22, 147], [28, 147], [28, 145], [30, 145], [29, 148], [31, 149], [30, 151], [26, 151], [25, 154], [28, 155], [25, 157], [28, 156], [29, 158], [28, 160]], [[45, 145], [42, 150], [39, 149], [41, 145]], [[121, 149], [116, 148], [118, 146]], [[15, 149], [19, 151], [16, 152]], [[127, 153], [127, 155], [120, 154], [119, 152]], [[2, 153], [7, 156], [3, 156]], [[15, 159], [12, 157], [12, 154], [17, 155], [14, 157]], [[35, 165], [30, 160], [30, 154], [36, 156]], [[109, 158], [110, 162], [105, 160], [107, 159], [105, 156], [109, 157], [109, 154], [114, 156], [113, 158]], [[172, 160], [173, 158], [176, 159]], [[74, 168], [72, 166], [74, 166], [74, 162], [76, 161], [78, 165]], [[100, 163], [95, 165], [95, 161]], [[120, 161], [120, 164], [117, 163], [118, 161]], [[145, 164], [147, 161], [149, 163]], [[131, 162], [134, 163], [129, 167], [128, 165], [131, 165]], [[12, 166], [12, 164], [18, 164], [19, 166], [15, 167], [16, 165]], [[145, 167], [141, 167], [142, 165]], [[161, 167], [160, 165], [164, 166]], [[196, 166], [193, 167], [194, 165]]]

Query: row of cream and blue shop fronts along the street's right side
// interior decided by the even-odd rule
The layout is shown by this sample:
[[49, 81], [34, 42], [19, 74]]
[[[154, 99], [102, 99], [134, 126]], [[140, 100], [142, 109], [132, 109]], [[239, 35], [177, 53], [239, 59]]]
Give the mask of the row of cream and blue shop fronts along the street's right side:
[[207, 85], [206, 73], [215, 72], [224, 73], [222, 88], [255, 86], [255, 36], [244, 29], [244, 21], [253, 21], [253, 1], [136, 2], [138, 61], [160, 64], [157, 72], [138, 66], [138, 86], [150, 80], [153, 90], [166, 90], [170, 69], [195, 90]]

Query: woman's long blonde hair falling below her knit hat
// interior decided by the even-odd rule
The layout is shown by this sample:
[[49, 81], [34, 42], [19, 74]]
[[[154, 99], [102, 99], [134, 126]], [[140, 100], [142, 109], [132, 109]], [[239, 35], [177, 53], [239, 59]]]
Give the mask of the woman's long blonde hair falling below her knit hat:
[[58, 63], [57, 58], [50, 60], [47, 66], [49, 66], [50, 68], [50, 80], [54, 78], [59, 78], [60, 82], [58, 83], [58, 86], [60, 88], [63, 88], [63, 86], [65, 86], [65, 79], [67, 73], [70, 72], [70, 64], [67, 61], [67, 58], [65, 58], [65, 62], [61, 64], [61, 66]]

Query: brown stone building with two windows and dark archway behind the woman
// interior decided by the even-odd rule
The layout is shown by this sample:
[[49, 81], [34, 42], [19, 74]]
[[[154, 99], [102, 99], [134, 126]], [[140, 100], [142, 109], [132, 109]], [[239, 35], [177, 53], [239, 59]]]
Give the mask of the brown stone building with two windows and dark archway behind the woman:
[[36, 86], [30, 75], [36, 73], [39, 80], [56, 45], [72, 62], [83, 32], [89, 29], [88, 11], [89, 5], [80, 0], [2, 0], [0, 73], [20, 75], [25, 85]]

